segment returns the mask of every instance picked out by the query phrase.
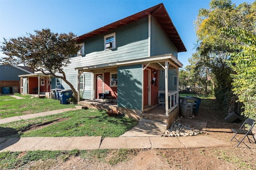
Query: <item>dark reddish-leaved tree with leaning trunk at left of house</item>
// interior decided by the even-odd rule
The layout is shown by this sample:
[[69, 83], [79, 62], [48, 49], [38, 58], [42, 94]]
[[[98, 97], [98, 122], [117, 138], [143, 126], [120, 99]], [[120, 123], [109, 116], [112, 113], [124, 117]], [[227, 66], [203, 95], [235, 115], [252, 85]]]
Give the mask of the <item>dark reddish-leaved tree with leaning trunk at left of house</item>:
[[[3, 64], [23, 64], [44, 75], [61, 78], [66, 82], [76, 100], [78, 94], [74, 86], [66, 79], [63, 68], [70, 63], [70, 57], [76, 55], [80, 46], [76, 43], [73, 33], [52, 33], [50, 29], [35, 31], [35, 35], [4, 39], [0, 50], [5, 56], [1, 57]], [[60, 73], [60, 74], [56, 74]]]

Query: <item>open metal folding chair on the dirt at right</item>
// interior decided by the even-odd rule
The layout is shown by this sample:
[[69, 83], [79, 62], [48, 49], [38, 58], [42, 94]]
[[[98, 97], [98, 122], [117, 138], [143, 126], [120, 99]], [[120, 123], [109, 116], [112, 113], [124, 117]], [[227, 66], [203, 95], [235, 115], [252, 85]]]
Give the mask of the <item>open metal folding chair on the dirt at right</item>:
[[[249, 130], [246, 130], [246, 129], [245, 129], [245, 125], [250, 125], [250, 126], [251, 126], [250, 129], [249, 129]], [[242, 126], [240, 127], [240, 129], [231, 129], [231, 131], [233, 131], [234, 133], [236, 133], [236, 134], [232, 137], [232, 139], [236, 139], [235, 136], [236, 136], [237, 134], [242, 134], [242, 135], [244, 135], [244, 137], [242, 138], [241, 141], [238, 141], [238, 139], [236, 139], [236, 140], [239, 142], [238, 145], [240, 145], [240, 143], [244, 140], [244, 138], [245, 138], [246, 136], [247, 136], [249, 142], [251, 142], [252, 140], [249, 139], [248, 135], [252, 135], [252, 137], [253, 137], [253, 139], [254, 139], [254, 143], [256, 143], [255, 138], [254, 138], [254, 134], [252, 133], [252, 128], [254, 127], [254, 125], [255, 125], [254, 119], [247, 118], [247, 119], [244, 121], [244, 123], [242, 124]], [[232, 141], [232, 139], [231, 139], [230, 141]], [[252, 141], [252, 142], [253, 142], [253, 141]], [[244, 142], [243, 142], [243, 143], [244, 143]], [[238, 145], [237, 145], [236, 147], [238, 147]], [[246, 144], [244, 143], [244, 145], [246, 145]], [[246, 145], [246, 146], [247, 146], [247, 145]], [[248, 146], [247, 146], [247, 147], [248, 147]]]

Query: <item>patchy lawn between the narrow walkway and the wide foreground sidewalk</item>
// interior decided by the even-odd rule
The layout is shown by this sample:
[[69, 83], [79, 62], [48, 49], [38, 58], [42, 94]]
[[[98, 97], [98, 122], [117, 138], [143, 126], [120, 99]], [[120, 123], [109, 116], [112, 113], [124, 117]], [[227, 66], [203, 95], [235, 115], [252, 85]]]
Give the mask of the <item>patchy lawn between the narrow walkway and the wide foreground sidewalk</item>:
[[[26, 132], [33, 125], [45, 125], [58, 119], [64, 119], [42, 129]], [[14, 129], [13, 135], [21, 137], [70, 137], [70, 136], [102, 136], [118, 137], [138, 124], [135, 119], [124, 116], [109, 117], [106, 111], [88, 109], [67, 111], [55, 115], [36, 117], [1, 125], [1, 136]]]

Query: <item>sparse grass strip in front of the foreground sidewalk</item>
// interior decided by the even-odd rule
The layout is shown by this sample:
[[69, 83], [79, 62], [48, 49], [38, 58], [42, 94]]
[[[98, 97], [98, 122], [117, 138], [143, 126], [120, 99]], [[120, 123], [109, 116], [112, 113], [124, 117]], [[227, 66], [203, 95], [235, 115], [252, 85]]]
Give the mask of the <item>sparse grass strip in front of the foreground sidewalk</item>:
[[[23, 169], [30, 162], [42, 160], [45, 162], [52, 162], [54, 160], [62, 160], [66, 162], [72, 156], [79, 156], [83, 159], [98, 159], [100, 162], [107, 162], [110, 165], [117, 164], [129, 160], [131, 155], [136, 155], [138, 149], [97, 149], [97, 150], [66, 150], [66, 151], [50, 151], [50, 150], [36, 150], [28, 152], [0, 152], [0, 168], [2, 169]], [[108, 159], [108, 157], [110, 158]], [[44, 168], [51, 167], [51, 165], [44, 164]], [[34, 166], [33, 169], [38, 167]], [[40, 167], [42, 168], [42, 167]]]

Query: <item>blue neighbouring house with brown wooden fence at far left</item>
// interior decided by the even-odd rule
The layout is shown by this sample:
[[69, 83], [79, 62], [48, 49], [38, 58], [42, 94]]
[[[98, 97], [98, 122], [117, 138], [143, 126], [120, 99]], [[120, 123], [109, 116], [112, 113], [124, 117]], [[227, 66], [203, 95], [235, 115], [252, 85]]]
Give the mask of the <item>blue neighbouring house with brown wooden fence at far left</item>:
[[[18, 92], [20, 91], [20, 74], [31, 74], [33, 70], [24, 66], [12, 66], [0, 64], [0, 94], [3, 94], [3, 88], [9, 88], [10, 93], [12, 87], [18, 87]], [[4, 92], [5, 93], [5, 92]]]

